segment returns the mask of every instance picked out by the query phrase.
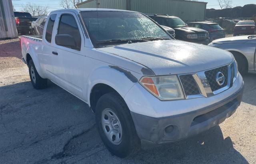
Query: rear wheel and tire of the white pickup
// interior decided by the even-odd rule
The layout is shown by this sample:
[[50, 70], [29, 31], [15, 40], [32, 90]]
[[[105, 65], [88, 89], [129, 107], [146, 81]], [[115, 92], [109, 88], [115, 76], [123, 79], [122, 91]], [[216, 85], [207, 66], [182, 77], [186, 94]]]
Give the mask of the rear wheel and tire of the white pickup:
[[47, 79], [43, 79], [37, 72], [32, 60], [28, 63], [28, 70], [31, 83], [35, 89], [44, 89], [47, 87]]

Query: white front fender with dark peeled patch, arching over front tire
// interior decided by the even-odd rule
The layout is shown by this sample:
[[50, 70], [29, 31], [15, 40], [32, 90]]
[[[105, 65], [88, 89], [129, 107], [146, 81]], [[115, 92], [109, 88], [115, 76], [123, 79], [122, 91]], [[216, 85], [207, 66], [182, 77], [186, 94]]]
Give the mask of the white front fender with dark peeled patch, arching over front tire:
[[128, 91], [138, 83], [141, 75], [121, 67], [105, 65], [92, 71], [86, 83], [86, 99], [92, 111], [100, 96], [116, 92], [124, 99]]

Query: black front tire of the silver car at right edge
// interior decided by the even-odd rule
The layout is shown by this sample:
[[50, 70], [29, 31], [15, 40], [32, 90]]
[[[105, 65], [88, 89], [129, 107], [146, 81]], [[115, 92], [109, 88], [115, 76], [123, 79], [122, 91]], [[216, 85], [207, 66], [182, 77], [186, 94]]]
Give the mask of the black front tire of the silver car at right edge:
[[238, 71], [240, 72], [241, 75], [245, 75], [247, 72], [248, 72], [248, 62], [247, 60], [245, 59], [245, 57], [238, 53], [238, 52], [231, 52], [235, 59], [236, 59], [236, 62], [237, 62], [237, 65], [238, 65]]

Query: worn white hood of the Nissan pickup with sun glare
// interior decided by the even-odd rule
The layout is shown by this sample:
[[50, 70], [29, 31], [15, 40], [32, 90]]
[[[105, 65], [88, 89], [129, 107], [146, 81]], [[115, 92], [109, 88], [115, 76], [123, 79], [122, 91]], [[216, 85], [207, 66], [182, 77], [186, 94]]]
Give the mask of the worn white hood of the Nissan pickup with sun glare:
[[234, 61], [228, 51], [179, 40], [131, 43], [98, 50], [140, 63], [156, 75], [194, 73]]

